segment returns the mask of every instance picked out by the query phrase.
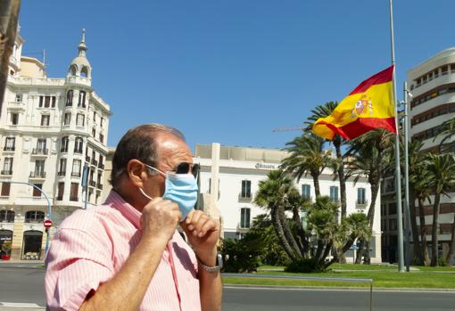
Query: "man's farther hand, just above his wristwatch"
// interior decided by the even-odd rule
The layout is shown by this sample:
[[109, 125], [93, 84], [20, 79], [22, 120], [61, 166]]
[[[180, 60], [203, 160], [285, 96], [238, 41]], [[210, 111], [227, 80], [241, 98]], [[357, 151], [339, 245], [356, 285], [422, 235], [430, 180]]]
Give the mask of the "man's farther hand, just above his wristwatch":
[[219, 222], [201, 210], [192, 210], [185, 221], [180, 223], [185, 230], [194, 252], [207, 266], [215, 266], [217, 242], [219, 241]]

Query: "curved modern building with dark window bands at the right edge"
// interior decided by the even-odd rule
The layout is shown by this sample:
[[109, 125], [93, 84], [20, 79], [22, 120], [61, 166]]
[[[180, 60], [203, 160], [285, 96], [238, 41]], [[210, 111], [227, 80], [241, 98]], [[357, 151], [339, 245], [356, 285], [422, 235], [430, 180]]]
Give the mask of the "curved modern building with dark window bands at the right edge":
[[[443, 136], [443, 123], [455, 117], [455, 47], [437, 53], [408, 71], [408, 86], [413, 95], [409, 107], [409, 137], [424, 143], [425, 151], [438, 151]], [[455, 137], [444, 143], [455, 151]], [[442, 197], [439, 217], [439, 256], [445, 256], [451, 241], [451, 226], [455, 215], [455, 195]], [[434, 201], [434, 197], [431, 197]], [[425, 219], [428, 226], [426, 241], [431, 241], [433, 207], [426, 201]], [[418, 211], [417, 211], [418, 214]], [[419, 219], [418, 219], [419, 220]], [[419, 222], [418, 222], [419, 225]], [[431, 254], [431, 248], [429, 248]]]

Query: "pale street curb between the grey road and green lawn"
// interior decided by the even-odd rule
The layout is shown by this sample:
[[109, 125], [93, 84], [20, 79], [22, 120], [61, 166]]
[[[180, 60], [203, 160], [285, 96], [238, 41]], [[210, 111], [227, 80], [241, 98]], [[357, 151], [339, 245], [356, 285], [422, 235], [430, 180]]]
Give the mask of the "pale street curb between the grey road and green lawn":
[[[283, 290], [319, 290], [319, 291], [369, 291], [369, 287], [343, 287], [343, 286], [287, 286], [287, 285], [252, 285], [252, 284], [230, 284], [223, 283], [223, 287], [238, 287], [238, 288], [258, 288], [258, 289], [283, 289]], [[386, 288], [375, 287], [373, 284], [373, 291], [386, 292], [441, 292], [441, 293], [455, 293], [453, 289], [414, 289], [414, 288]]]

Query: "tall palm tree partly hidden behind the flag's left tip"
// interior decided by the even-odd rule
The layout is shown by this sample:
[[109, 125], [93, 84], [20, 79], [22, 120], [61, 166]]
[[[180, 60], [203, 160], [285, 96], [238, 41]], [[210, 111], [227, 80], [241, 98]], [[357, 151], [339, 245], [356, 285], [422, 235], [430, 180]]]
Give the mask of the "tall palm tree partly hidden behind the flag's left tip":
[[[307, 125], [307, 131], [310, 131], [314, 123], [320, 118], [328, 117], [336, 108], [338, 102], [326, 102], [325, 104], [317, 106], [315, 109], [311, 110], [311, 115], [308, 117], [308, 121], [305, 122]], [[340, 135], [335, 135], [334, 140], [330, 143], [334, 144], [335, 154], [336, 154], [336, 166], [335, 170], [338, 176], [338, 181], [340, 183], [340, 199], [341, 199], [341, 216], [342, 219], [346, 216], [346, 178], [344, 176], [344, 159], [342, 146], [346, 141]]]

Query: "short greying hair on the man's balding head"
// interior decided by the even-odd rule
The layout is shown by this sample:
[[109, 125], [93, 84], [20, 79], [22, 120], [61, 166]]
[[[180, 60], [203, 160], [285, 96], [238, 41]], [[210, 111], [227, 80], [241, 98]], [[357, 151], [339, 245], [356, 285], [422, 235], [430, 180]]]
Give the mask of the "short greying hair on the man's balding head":
[[156, 151], [156, 135], [168, 132], [185, 141], [185, 136], [177, 128], [158, 123], [144, 124], [133, 127], [121, 137], [112, 158], [112, 173], [110, 183], [115, 189], [120, 178], [126, 173], [129, 160], [140, 160], [156, 167], [159, 154]]

